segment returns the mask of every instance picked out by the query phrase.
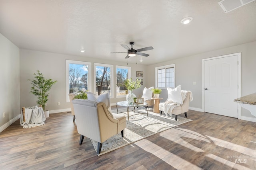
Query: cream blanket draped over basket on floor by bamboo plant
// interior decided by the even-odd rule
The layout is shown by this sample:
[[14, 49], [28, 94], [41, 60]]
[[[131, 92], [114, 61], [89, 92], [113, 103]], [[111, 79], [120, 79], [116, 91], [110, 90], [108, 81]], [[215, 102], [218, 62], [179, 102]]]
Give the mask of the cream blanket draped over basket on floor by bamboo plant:
[[21, 110], [20, 125], [23, 126], [23, 128], [44, 125], [44, 121], [46, 120], [43, 108], [38, 106], [27, 107], [25, 109], [24, 118], [25, 122], [23, 120], [23, 111]]

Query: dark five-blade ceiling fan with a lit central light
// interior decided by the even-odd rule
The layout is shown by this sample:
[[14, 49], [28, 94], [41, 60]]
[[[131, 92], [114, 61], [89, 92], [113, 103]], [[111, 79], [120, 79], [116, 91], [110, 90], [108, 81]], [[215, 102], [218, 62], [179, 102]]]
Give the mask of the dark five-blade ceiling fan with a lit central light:
[[[130, 42], [130, 45], [131, 46], [134, 45], [134, 42]], [[127, 45], [124, 45], [124, 44], [121, 44], [121, 46], [127, 49], [127, 56], [125, 57], [125, 59], [128, 59], [129, 57], [134, 57], [136, 55], [142, 55], [142, 56], [148, 57], [149, 56], [148, 54], [140, 53], [140, 51], [148, 51], [148, 50], [154, 49], [153, 47], [145, 47], [145, 48], [136, 50], [133, 48], [130, 49]], [[126, 53], [126, 52], [115, 52], [115, 53]]]

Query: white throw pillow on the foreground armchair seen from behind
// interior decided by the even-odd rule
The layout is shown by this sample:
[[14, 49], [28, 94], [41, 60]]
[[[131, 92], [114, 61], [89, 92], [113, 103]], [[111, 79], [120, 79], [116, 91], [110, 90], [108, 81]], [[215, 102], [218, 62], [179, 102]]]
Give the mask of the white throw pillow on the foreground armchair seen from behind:
[[95, 100], [96, 102], [103, 102], [108, 111], [112, 113], [111, 107], [110, 107], [110, 97], [109, 97], [109, 92], [104, 92], [100, 96], [93, 94], [91, 92], [86, 92], [87, 94], [87, 100]]

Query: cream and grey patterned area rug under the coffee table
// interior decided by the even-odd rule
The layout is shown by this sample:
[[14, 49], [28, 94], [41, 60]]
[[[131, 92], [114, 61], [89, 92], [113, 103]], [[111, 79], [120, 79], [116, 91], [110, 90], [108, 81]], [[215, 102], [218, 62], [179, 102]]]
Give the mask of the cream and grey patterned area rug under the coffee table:
[[[152, 110], [152, 109], [150, 109]], [[118, 107], [118, 111], [126, 112], [127, 108]], [[138, 109], [141, 113], [146, 113], [145, 109]], [[112, 109], [113, 113], [116, 113], [116, 109]], [[125, 113], [118, 113], [127, 117]], [[118, 149], [125, 145], [129, 145], [156, 133], [165, 131], [172, 127], [176, 127], [182, 123], [191, 121], [190, 119], [178, 116], [178, 120], [175, 121], [174, 115], [160, 116], [159, 113], [153, 113], [148, 111], [148, 117], [146, 114], [134, 114], [133, 111], [129, 111], [129, 123], [127, 124], [126, 118], [126, 128], [124, 129], [124, 137], [120, 134], [116, 134], [110, 139], [102, 143], [102, 148], [98, 156], [108, 153], [112, 150]], [[97, 152], [98, 142], [92, 141], [95, 151]]]

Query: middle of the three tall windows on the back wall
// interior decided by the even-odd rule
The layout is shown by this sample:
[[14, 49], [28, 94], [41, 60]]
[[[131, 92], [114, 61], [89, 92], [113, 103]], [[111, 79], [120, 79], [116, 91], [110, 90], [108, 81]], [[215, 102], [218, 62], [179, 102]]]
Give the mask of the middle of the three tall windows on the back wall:
[[94, 63], [94, 68], [95, 94], [100, 95], [109, 90], [113, 98], [113, 65]]

